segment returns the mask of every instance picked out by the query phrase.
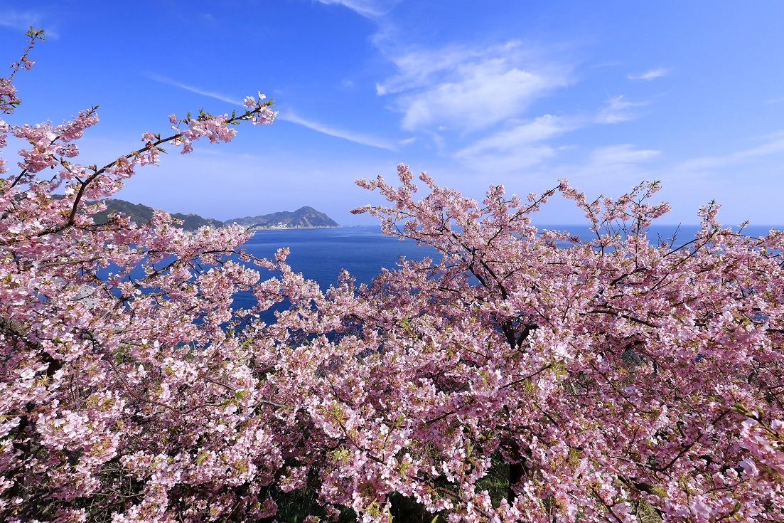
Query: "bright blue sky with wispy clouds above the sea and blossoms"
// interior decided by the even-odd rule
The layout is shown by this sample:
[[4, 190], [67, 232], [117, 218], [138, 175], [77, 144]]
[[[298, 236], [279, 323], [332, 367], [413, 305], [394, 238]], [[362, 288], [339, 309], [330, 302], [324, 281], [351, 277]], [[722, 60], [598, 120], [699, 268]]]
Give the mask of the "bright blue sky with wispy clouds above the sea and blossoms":
[[[344, 225], [379, 203], [358, 177], [397, 163], [481, 198], [566, 177], [597, 196], [644, 179], [699, 221], [782, 224], [782, 2], [0, 2], [0, 49], [48, 37], [17, 75], [11, 123], [100, 104], [82, 163], [136, 148], [166, 116], [230, 112], [256, 91], [273, 126], [241, 126], [140, 170], [118, 197], [227, 219], [316, 207]], [[5, 152], [8, 157], [8, 152]], [[554, 199], [539, 223], [580, 223]]]

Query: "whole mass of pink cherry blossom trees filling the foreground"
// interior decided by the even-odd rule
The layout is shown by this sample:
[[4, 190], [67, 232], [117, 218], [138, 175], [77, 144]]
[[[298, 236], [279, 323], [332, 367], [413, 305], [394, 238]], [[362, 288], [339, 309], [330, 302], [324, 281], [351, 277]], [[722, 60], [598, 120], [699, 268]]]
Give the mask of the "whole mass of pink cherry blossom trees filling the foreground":
[[[401, 165], [354, 212], [440, 258], [322, 291], [237, 226], [93, 222], [162, 145], [274, 114], [172, 115], [105, 166], [75, 160], [96, 108], [0, 122], [29, 144], [0, 165], [5, 521], [784, 521], [781, 232], [711, 203], [694, 239], [652, 242], [656, 183], [477, 202], [421, 174], [416, 199]], [[532, 225], [557, 193], [592, 238]]]

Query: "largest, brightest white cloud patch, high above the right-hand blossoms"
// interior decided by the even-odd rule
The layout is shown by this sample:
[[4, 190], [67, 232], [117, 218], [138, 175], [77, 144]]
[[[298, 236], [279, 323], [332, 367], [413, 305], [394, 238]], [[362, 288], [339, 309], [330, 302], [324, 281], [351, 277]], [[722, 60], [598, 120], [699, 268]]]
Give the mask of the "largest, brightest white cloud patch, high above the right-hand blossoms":
[[519, 42], [414, 51], [394, 58], [398, 74], [376, 92], [399, 95], [407, 130], [477, 130], [521, 115], [537, 98], [567, 85], [566, 68], [539, 61]]

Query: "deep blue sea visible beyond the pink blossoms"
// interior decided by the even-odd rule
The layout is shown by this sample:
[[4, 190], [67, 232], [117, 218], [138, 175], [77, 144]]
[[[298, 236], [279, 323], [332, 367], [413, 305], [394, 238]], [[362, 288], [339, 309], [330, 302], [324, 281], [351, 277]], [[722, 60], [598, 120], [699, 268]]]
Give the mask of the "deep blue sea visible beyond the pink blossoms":
[[[584, 225], [537, 225], [541, 229], [567, 231], [584, 239], [593, 236]], [[677, 225], [655, 225], [648, 238], [655, 242], [660, 236], [669, 242]], [[770, 226], [748, 227], [744, 232], [750, 236], [764, 236]], [[781, 229], [781, 227], [776, 227]], [[677, 234], [677, 245], [694, 238], [699, 230], [696, 225], [681, 225]], [[245, 245], [245, 251], [257, 257], [270, 258], [281, 247], [289, 247], [288, 262], [296, 272], [315, 280], [322, 290], [336, 283], [342, 269], [347, 269], [357, 283], [370, 283], [382, 268], [394, 269], [401, 256], [410, 260], [421, 260], [425, 256], [438, 259], [432, 247], [419, 247], [411, 240], [397, 240], [385, 236], [378, 225], [343, 227], [339, 229], [281, 229], [256, 232]], [[266, 279], [271, 273], [262, 274]], [[234, 298], [234, 307], [247, 308], [255, 303], [250, 293], [239, 293]]]

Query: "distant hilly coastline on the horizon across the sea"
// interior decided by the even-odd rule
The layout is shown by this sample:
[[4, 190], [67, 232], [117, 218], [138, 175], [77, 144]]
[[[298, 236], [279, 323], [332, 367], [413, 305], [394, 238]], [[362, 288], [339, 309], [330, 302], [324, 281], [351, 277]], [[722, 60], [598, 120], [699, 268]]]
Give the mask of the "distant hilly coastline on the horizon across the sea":
[[[143, 225], [150, 221], [154, 210], [152, 207], [147, 207], [142, 203], [130, 203], [124, 199], [109, 198], [103, 200], [103, 202], [106, 203], [106, 210], [93, 215], [93, 221], [96, 224], [106, 223], [109, 214], [122, 213], [136, 225]], [[260, 216], [234, 218], [225, 222], [212, 218], [201, 218], [198, 214], [172, 213], [172, 217], [182, 220], [182, 228], [187, 231], [195, 231], [205, 225], [208, 227], [220, 227], [221, 225], [230, 225], [232, 223], [238, 223], [251, 229], [321, 229], [340, 226], [332, 218], [315, 210], [313, 207], [300, 207], [293, 212], [284, 210]]]

